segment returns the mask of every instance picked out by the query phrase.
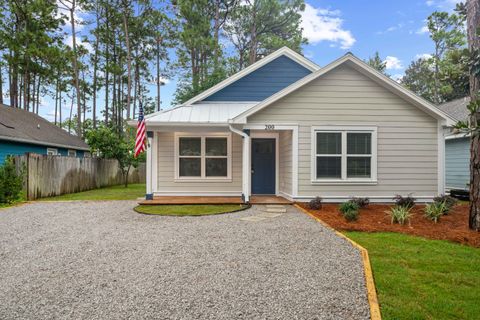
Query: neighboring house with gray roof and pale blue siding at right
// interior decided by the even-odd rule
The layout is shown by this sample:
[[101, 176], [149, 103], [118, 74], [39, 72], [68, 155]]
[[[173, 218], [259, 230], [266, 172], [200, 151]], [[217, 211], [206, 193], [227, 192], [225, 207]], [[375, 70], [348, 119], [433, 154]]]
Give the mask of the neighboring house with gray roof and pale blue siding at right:
[[[453, 100], [438, 107], [459, 121], [468, 120], [470, 98]], [[467, 190], [470, 182], [470, 136], [451, 133], [445, 137], [446, 189]]]

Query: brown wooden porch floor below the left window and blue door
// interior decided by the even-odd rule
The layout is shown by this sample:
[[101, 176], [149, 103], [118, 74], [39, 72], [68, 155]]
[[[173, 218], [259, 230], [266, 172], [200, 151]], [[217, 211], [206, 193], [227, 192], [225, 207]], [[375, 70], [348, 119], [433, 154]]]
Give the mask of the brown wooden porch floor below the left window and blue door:
[[[187, 197], [187, 196], [158, 196], [153, 200], [141, 200], [143, 205], [158, 204], [241, 204], [240, 197]], [[278, 196], [251, 196], [251, 204], [291, 204], [292, 202]]]

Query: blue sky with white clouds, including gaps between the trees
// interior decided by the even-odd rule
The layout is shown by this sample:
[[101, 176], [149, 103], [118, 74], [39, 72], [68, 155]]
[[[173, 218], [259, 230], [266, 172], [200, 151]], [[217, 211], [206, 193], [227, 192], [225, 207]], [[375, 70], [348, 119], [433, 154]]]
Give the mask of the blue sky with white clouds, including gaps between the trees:
[[[432, 53], [426, 18], [434, 11], [452, 12], [458, 0], [306, 0], [302, 13], [303, 54], [324, 66], [346, 52], [368, 59], [376, 51], [387, 73], [399, 79], [412, 60]], [[80, 14], [81, 18], [81, 14]], [[83, 30], [80, 32], [86, 32]], [[71, 42], [71, 39], [66, 39]], [[227, 48], [228, 50], [228, 48]], [[172, 107], [177, 79], [161, 88], [162, 109]], [[154, 84], [148, 87], [156, 95]], [[102, 105], [102, 102], [99, 102]], [[53, 118], [54, 105], [45, 98], [41, 115]], [[65, 113], [66, 114], [66, 113]]]

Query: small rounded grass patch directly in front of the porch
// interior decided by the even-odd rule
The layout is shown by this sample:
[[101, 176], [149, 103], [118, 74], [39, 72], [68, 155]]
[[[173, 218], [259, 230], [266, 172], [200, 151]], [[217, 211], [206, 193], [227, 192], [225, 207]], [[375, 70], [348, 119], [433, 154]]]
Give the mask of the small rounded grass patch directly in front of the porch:
[[247, 206], [241, 204], [140, 205], [135, 207], [135, 211], [164, 216], [207, 216], [212, 214], [239, 211], [245, 209], [246, 207]]

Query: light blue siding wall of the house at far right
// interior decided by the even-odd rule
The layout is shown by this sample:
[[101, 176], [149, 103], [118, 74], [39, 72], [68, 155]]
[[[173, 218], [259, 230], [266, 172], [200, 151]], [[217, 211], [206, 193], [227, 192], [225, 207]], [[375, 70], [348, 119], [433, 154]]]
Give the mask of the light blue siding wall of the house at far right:
[[447, 188], [467, 188], [470, 182], [470, 139], [445, 141], [445, 182]]

